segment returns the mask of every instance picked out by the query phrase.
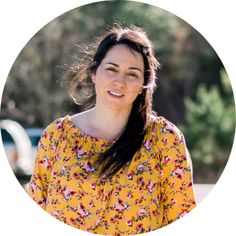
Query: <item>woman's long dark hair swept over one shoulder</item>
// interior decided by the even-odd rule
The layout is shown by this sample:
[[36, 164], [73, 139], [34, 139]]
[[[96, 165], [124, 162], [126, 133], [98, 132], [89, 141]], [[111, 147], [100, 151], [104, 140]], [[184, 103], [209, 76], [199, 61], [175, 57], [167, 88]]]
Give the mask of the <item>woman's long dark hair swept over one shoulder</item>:
[[113, 176], [131, 161], [142, 145], [146, 128], [150, 123], [150, 115], [153, 113], [152, 94], [156, 86], [156, 70], [159, 67], [159, 62], [154, 56], [152, 45], [146, 32], [135, 26], [122, 28], [116, 25], [111, 28], [98, 39], [96, 51], [92, 56], [86, 57], [83, 66], [79, 67], [78, 73], [70, 85], [71, 96], [76, 101], [74, 95], [81, 81], [91, 79], [91, 75], [96, 72], [107, 52], [113, 46], [119, 44], [124, 44], [142, 55], [144, 84], [142, 93], [133, 102], [125, 130], [108, 150], [100, 153], [95, 161], [99, 175], [107, 177]]

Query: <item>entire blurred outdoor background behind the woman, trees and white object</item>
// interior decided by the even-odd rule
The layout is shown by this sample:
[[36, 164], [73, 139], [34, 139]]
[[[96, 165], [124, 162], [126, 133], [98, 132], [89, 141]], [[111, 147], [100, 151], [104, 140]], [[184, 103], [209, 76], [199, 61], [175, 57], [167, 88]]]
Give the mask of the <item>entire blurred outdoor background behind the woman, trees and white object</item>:
[[6, 81], [0, 113], [4, 147], [18, 180], [29, 181], [43, 129], [58, 117], [91, 107], [91, 99], [76, 105], [68, 95], [72, 78], [66, 68], [78, 63], [86, 46], [114, 22], [147, 31], [162, 65], [153, 108], [184, 133], [194, 182], [215, 184], [235, 132], [234, 97], [224, 66], [188, 23], [160, 8], [129, 1], [98, 2], [67, 12], [38, 31], [20, 52]]

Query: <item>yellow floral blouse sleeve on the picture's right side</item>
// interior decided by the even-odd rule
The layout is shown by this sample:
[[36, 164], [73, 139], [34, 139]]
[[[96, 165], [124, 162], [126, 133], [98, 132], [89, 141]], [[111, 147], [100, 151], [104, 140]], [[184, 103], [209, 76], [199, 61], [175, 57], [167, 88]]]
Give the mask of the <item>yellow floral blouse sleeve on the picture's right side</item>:
[[165, 121], [160, 130], [158, 146], [163, 176], [161, 183], [162, 226], [165, 226], [190, 212], [196, 203], [192, 162], [183, 134], [172, 123]]

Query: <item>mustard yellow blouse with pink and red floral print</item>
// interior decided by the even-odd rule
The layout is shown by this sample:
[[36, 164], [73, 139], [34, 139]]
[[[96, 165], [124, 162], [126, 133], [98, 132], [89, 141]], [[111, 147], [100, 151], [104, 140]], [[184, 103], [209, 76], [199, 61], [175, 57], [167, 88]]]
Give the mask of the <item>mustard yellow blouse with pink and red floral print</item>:
[[69, 115], [55, 120], [38, 145], [30, 196], [66, 224], [109, 235], [155, 230], [195, 207], [191, 160], [176, 126], [155, 117], [133, 160], [97, 178], [94, 156], [114, 142], [85, 134]]

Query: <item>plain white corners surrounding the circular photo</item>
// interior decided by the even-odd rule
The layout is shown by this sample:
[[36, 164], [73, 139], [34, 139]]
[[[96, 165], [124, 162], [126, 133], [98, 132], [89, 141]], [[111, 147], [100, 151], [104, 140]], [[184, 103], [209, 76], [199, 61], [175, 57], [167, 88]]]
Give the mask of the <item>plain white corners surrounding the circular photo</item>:
[[[94, 1], [2, 0], [0, 3], [0, 88], [28, 40], [45, 24], [68, 10]], [[140, 1], [181, 17], [213, 46], [235, 93], [236, 22], [233, 0]], [[96, 19], [94, 19], [96, 20]], [[39, 78], [40, 79], [40, 78]], [[19, 88], [20, 89], [20, 88]], [[65, 225], [42, 211], [16, 181], [0, 144], [0, 235], [91, 235]], [[223, 175], [210, 194], [183, 219], [148, 235], [234, 235], [236, 211], [235, 143]], [[233, 158], [234, 157], [234, 158]]]

